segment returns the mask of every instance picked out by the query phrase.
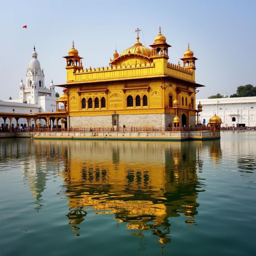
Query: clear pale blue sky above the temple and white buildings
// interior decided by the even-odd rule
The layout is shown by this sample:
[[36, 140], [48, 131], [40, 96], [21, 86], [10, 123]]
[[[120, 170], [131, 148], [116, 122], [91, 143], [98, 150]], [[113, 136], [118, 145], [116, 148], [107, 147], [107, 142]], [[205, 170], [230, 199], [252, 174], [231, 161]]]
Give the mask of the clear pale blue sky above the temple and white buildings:
[[[4, 1], [0, 0], [0, 99], [18, 98], [20, 79], [34, 43], [45, 83], [66, 82], [65, 56], [75, 41], [84, 67], [107, 66], [143, 31], [145, 45], [154, 42], [161, 25], [169, 61], [177, 63], [187, 49], [198, 58], [198, 98], [239, 85], [256, 85], [256, 1]], [[28, 29], [22, 28], [27, 25]], [[142, 33], [140, 41], [144, 44]], [[61, 89], [57, 89], [61, 93]]]

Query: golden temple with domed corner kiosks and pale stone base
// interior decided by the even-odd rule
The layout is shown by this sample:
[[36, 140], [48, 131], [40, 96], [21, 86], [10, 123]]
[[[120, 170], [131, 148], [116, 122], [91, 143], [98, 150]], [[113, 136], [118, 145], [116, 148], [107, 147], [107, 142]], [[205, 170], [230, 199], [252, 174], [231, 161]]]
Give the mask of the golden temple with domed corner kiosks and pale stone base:
[[135, 44], [115, 51], [105, 67], [84, 68], [73, 42], [64, 57], [67, 83], [58, 85], [67, 89], [68, 128], [196, 124], [196, 89], [204, 85], [195, 82], [197, 58], [189, 44], [182, 65], [173, 64], [161, 28], [151, 48], [135, 32]]

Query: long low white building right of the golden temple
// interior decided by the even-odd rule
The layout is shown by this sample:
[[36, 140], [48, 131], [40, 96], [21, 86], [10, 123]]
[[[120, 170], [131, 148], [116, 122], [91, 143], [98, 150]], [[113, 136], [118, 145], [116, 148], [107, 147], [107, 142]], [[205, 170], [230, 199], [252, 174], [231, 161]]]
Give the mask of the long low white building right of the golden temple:
[[256, 126], [256, 97], [220, 98], [196, 100], [203, 105], [199, 122], [209, 122], [216, 113], [223, 122], [222, 126]]

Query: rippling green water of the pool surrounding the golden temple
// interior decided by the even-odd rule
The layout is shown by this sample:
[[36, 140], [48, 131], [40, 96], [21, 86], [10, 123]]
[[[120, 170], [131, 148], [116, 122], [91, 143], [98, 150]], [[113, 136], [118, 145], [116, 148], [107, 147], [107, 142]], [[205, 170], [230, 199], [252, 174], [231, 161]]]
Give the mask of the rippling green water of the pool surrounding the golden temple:
[[255, 132], [1, 139], [1, 255], [254, 255], [255, 153]]

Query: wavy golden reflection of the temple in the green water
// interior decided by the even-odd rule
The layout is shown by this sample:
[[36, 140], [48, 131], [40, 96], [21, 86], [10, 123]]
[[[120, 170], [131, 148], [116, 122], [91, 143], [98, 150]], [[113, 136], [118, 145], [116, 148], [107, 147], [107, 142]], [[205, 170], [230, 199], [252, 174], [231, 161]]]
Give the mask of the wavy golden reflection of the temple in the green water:
[[[203, 152], [210, 153], [214, 164], [221, 159], [220, 140], [24, 141], [27, 147], [23, 145], [23, 149], [34, 158], [21, 161], [23, 178], [37, 210], [43, 205], [47, 175], [59, 173], [64, 179], [60, 194], [68, 199], [68, 224], [77, 236], [93, 209], [95, 215], [114, 214], [119, 223], [126, 223], [131, 235], [143, 238], [143, 230], [150, 229], [162, 244], [170, 242], [172, 217], [183, 215], [187, 225], [197, 224], [196, 200], [205, 189], [198, 177]], [[18, 156], [19, 146], [14, 148], [12, 155]], [[40, 161], [36, 161], [38, 156]]]

